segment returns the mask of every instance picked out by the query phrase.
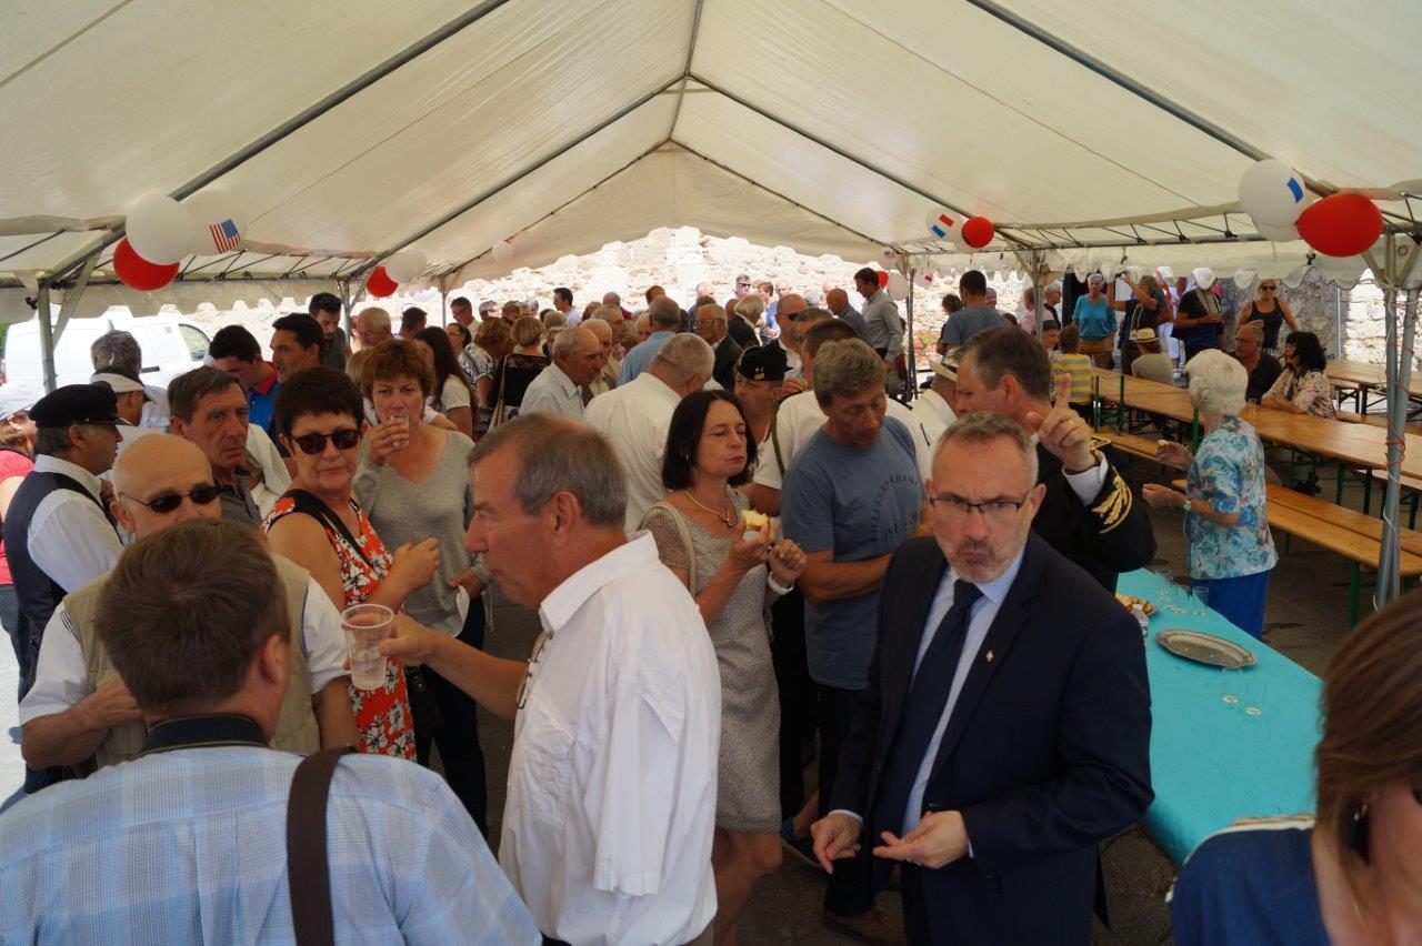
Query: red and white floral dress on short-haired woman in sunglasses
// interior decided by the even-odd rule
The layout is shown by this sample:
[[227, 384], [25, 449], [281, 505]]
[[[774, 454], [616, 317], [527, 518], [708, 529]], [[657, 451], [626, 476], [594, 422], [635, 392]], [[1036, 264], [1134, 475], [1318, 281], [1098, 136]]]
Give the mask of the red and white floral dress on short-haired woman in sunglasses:
[[[320, 517], [326, 538], [341, 564], [343, 609], [364, 604], [375, 594], [381, 578], [390, 572], [394, 562], [394, 557], [371, 527], [370, 518], [354, 500], [351, 509], [360, 520], [360, 531], [356, 535], [360, 548], [353, 547], [331, 523]], [[277, 520], [297, 511], [300, 510], [296, 499], [287, 493], [272, 506], [272, 511], [262, 523], [262, 531], [270, 531]], [[380, 689], [363, 690], [350, 685], [346, 689], [351, 697], [351, 709], [356, 710], [356, 732], [360, 739], [356, 749], [414, 761], [415, 720], [405, 690], [404, 665], [398, 660], [385, 660], [385, 683]]]

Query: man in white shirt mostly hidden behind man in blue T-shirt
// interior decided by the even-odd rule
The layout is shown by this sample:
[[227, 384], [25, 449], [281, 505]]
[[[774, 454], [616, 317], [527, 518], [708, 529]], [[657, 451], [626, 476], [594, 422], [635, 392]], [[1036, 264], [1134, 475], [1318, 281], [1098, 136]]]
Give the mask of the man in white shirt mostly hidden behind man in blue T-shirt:
[[[826, 318], [805, 334], [801, 342], [801, 371], [805, 384], [815, 384], [815, 352], [829, 341], [849, 341], [859, 338], [855, 328], [839, 318]], [[894, 418], [910, 430], [914, 429], [913, 412], [893, 398], [889, 399], [884, 416]], [[815, 433], [825, 426], [825, 412], [815, 399], [813, 391], [802, 391], [798, 395], [781, 402], [775, 415], [775, 425], [771, 428], [771, 449], [759, 457], [755, 467], [755, 479], [751, 486], [751, 501], [755, 509], [766, 516], [781, 514], [781, 483], [785, 480], [785, 470], [791, 460], [809, 442]], [[933, 450], [924, 447], [921, 437], [914, 437], [919, 459], [919, 477], [926, 479], [933, 462]]]

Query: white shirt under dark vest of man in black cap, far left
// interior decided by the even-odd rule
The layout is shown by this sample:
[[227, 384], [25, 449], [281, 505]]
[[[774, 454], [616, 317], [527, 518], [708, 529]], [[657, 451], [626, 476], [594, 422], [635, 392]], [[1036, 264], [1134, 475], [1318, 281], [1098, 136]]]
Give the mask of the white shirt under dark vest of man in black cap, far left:
[[54, 490], [40, 500], [26, 535], [34, 564], [64, 591], [74, 591], [112, 571], [124, 548], [98, 504], [102, 501], [98, 499], [98, 477], [48, 455], [34, 457], [34, 470], [67, 476], [94, 497], [90, 500], [74, 490]]

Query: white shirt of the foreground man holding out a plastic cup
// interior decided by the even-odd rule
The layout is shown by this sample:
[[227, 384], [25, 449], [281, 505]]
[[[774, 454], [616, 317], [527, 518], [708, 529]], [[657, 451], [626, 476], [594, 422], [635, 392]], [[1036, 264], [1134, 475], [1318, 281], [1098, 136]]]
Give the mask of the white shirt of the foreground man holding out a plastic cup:
[[539, 621], [499, 862], [547, 936], [691, 942], [717, 909], [721, 676], [701, 612], [638, 533], [555, 588]]

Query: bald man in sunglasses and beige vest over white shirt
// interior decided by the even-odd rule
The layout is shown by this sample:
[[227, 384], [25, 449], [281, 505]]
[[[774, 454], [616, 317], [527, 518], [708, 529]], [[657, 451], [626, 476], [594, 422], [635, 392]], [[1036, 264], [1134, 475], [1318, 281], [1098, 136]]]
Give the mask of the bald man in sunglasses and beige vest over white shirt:
[[[125, 450], [114, 464], [114, 511], [139, 540], [191, 518], [220, 517], [208, 457], [172, 435], [155, 432]], [[340, 615], [303, 570], [279, 560], [277, 574], [283, 584], [297, 582], [297, 591], [304, 591], [299, 594], [301, 609], [287, 615], [293, 643], [300, 645], [293, 648], [293, 670], [303, 673], [292, 686], [301, 687], [303, 699], [300, 706], [283, 712], [273, 746], [314, 751], [350, 744], [356, 740], [356, 724], [346, 693], [348, 673]], [[125, 761], [141, 741], [141, 732], [125, 734], [121, 729], [134, 730], [135, 723], [142, 723], [124, 680], [115, 673], [94, 672], [95, 665], [108, 663], [94, 634], [92, 607], [104, 581], [107, 575], [65, 595], [44, 629], [34, 687], [20, 702], [24, 729], [20, 749], [34, 768], [88, 770]]]

